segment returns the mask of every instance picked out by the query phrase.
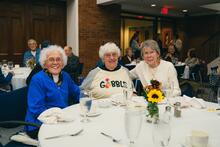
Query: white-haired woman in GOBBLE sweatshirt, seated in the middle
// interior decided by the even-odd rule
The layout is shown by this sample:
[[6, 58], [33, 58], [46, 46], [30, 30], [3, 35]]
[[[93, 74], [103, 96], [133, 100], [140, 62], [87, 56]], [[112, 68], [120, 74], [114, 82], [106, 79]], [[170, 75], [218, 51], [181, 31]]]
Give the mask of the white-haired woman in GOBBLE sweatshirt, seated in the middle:
[[80, 88], [92, 92], [95, 98], [108, 98], [123, 93], [123, 89], [132, 89], [128, 70], [118, 64], [120, 49], [115, 43], [108, 42], [100, 47], [99, 57], [103, 65], [89, 72]]

